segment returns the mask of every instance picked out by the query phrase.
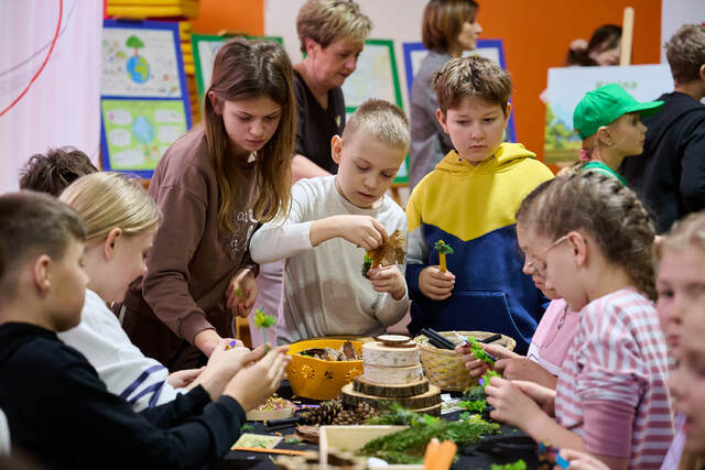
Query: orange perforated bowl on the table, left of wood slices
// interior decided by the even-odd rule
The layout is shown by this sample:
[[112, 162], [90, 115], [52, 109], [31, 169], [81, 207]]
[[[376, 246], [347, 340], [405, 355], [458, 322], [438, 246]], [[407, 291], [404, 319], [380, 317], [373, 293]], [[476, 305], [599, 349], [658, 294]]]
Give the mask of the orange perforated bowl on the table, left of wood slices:
[[[304, 398], [333, 400], [340, 389], [362, 373], [362, 361], [324, 361], [299, 354], [311, 348], [340, 349], [344, 339], [308, 339], [289, 346], [292, 361], [286, 373], [292, 391]], [[350, 341], [355, 351], [362, 356], [362, 341]]]

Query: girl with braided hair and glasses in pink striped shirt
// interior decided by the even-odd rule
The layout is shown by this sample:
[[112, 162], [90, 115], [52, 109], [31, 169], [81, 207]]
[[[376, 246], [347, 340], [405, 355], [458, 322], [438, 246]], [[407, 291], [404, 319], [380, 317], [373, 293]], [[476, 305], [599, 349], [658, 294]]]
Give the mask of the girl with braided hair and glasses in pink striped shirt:
[[[611, 469], [658, 469], [673, 437], [655, 299], [653, 225], [627, 187], [595, 172], [544, 183], [517, 214], [546, 286], [581, 311], [556, 390], [492, 379], [491, 417]], [[552, 419], [555, 416], [555, 420]]]

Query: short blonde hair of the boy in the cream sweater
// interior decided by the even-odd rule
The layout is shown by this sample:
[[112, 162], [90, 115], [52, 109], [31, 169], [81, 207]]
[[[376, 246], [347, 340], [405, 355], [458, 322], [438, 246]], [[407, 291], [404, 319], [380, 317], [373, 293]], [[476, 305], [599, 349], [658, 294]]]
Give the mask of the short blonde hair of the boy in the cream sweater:
[[350, 139], [359, 131], [404, 153], [409, 151], [409, 119], [398, 106], [383, 99], [368, 99], [360, 105], [345, 124], [343, 139]]

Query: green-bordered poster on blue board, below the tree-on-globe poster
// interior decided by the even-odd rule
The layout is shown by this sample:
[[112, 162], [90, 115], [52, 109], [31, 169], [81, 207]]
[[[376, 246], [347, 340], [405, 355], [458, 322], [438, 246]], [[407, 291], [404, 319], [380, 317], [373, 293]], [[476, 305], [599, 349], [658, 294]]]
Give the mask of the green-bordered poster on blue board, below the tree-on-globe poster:
[[104, 99], [101, 108], [111, 170], [154, 170], [187, 130], [182, 101]]

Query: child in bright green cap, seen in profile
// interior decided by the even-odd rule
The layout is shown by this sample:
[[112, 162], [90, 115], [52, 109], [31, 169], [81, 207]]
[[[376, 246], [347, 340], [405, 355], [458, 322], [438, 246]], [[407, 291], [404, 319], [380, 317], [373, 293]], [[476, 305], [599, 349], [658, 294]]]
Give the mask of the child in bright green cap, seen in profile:
[[641, 118], [659, 111], [663, 101], [639, 102], [617, 84], [585, 94], [573, 112], [573, 128], [583, 139], [582, 170], [604, 173], [626, 185], [617, 170], [629, 155], [643, 151], [647, 127]]

